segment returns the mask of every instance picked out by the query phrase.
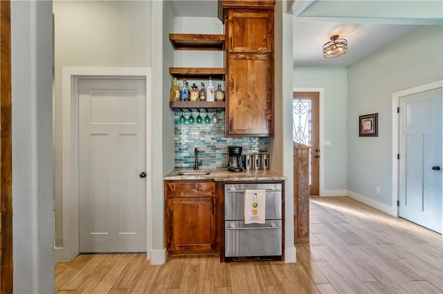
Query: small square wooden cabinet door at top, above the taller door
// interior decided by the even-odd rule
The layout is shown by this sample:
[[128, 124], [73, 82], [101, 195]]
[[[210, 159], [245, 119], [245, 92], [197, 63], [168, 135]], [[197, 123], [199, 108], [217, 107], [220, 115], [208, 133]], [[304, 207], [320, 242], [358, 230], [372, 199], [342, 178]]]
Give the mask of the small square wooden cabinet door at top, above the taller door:
[[228, 52], [273, 52], [273, 11], [228, 12]]

